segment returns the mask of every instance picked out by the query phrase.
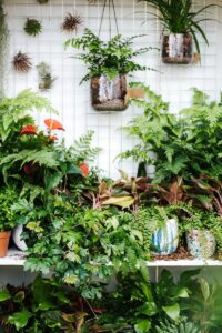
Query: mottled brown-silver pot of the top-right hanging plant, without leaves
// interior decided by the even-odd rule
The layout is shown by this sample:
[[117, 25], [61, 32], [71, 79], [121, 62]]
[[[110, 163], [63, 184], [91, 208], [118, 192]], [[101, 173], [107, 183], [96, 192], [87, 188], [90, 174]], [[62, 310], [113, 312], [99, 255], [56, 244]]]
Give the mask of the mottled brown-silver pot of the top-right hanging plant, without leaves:
[[163, 36], [162, 60], [165, 63], [188, 64], [193, 58], [193, 38], [189, 33]]

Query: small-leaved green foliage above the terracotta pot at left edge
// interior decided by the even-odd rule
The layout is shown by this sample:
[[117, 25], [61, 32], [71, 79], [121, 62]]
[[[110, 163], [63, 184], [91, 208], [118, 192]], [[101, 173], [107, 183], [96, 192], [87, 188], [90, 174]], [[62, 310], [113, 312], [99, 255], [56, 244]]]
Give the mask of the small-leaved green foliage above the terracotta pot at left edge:
[[13, 189], [1, 188], [0, 190], [0, 231], [11, 231], [16, 222], [16, 213], [12, 204], [18, 198], [18, 193]]

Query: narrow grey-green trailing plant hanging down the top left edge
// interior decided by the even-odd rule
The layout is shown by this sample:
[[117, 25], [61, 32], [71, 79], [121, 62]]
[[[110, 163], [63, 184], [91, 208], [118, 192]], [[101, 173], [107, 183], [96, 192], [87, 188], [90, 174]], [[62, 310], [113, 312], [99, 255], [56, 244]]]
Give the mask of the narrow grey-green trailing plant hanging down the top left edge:
[[3, 0], [0, 0], [0, 98], [4, 94], [4, 79], [6, 79], [6, 62], [8, 50], [9, 30], [6, 22], [6, 13], [3, 10]]

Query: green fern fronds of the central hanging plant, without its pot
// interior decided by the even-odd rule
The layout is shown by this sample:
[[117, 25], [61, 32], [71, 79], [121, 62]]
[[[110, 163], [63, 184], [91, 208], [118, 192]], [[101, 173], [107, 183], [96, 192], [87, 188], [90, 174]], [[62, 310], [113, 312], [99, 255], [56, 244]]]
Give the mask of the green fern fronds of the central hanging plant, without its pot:
[[128, 74], [134, 71], [151, 70], [134, 62], [137, 56], [143, 54], [152, 48], [133, 50], [132, 44], [135, 38], [122, 38], [121, 34], [113, 37], [108, 42], [101, 41], [91, 30], [85, 29], [81, 38], [72, 38], [65, 42], [67, 47], [82, 49], [82, 53], [75, 58], [82, 60], [88, 67], [88, 74], [81, 82], [93, 77], [105, 74], [110, 80], [119, 73]]

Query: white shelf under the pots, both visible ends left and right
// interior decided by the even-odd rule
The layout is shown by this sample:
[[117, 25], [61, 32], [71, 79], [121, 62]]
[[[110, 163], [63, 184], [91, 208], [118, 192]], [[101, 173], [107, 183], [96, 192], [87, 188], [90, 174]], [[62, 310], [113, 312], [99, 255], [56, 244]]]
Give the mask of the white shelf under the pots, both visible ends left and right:
[[[10, 249], [8, 255], [0, 258], [0, 266], [23, 266], [26, 261], [26, 253], [16, 249]], [[222, 266], [222, 261], [208, 259], [182, 259], [182, 260], [157, 260], [148, 261], [149, 268], [202, 268], [202, 266]]]

